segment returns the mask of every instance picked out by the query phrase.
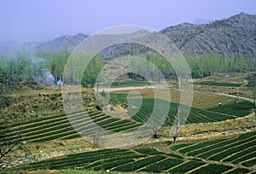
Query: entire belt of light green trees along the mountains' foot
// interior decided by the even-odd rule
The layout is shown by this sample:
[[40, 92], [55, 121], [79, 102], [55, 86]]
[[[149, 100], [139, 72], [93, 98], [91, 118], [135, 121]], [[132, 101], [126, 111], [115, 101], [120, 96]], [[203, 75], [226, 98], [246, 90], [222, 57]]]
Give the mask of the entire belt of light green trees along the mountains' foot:
[[[49, 78], [49, 71], [55, 78], [55, 84], [59, 80], [62, 81], [63, 70], [66, 66], [67, 59], [71, 54], [67, 51], [57, 53], [39, 52], [36, 56], [31, 56], [26, 53], [19, 55], [0, 55], [0, 69], [4, 73], [9, 73], [12, 77], [20, 78], [22, 81], [35, 80], [38, 77]], [[73, 62], [73, 66], [81, 67], [81, 61], [88, 55], [79, 55], [78, 59]], [[150, 77], [153, 81], [160, 81], [160, 76], [166, 79], [177, 78], [172, 65], [160, 55], [145, 55], [144, 60], [133, 59], [131, 67], [134, 68], [134, 73], [130, 73], [129, 77], [133, 79], [143, 79], [143, 76]], [[203, 78], [212, 76], [218, 73], [245, 73], [256, 71], [255, 55], [205, 55], [195, 57], [186, 55], [192, 78]], [[78, 79], [78, 74], [70, 72], [69, 80], [71, 82], [81, 82], [84, 87], [91, 87], [96, 83], [98, 73], [103, 67], [103, 56], [96, 55], [85, 68], [82, 81]], [[151, 62], [155, 67], [150, 65]], [[157, 70], [159, 69], [159, 71]]]

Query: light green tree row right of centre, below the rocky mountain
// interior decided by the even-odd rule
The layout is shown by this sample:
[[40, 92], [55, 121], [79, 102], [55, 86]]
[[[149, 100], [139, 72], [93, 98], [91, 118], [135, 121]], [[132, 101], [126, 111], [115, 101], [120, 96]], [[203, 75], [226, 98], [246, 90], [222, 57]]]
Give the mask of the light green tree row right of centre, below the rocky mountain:
[[[157, 55], [147, 55], [146, 59], [151, 61], [166, 79], [177, 78], [175, 70], [165, 58]], [[218, 73], [246, 73], [256, 71], [255, 55], [245, 56], [239, 53], [233, 55], [212, 54], [200, 57], [186, 55], [185, 59], [189, 65], [192, 78], [204, 78]], [[153, 79], [158, 77], [158, 72], [154, 68], [150, 68], [147, 62], [134, 60], [131, 61], [131, 66], [137, 67], [139, 74], [149, 74]]]

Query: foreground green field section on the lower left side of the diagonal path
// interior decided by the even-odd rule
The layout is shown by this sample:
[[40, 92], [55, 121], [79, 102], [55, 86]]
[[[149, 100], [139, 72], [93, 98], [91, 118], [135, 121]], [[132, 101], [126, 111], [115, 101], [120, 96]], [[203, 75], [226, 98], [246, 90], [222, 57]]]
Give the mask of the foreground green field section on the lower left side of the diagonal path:
[[[181, 147], [182, 148], [182, 147]], [[170, 172], [185, 173], [240, 173], [250, 172], [250, 169], [233, 168], [228, 165], [207, 164], [201, 160], [183, 159], [180, 156], [170, 156], [150, 148], [136, 148], [136, 152], [125, 149], [103, 149], [79, 154], [68, 154], [67, 156], [54, 159], [46, 159], [26, 165], [24, 170], [63, 170], [82, 169], [92, 171], [121, 171], [121, 172]], [[140, 154], [137, 154], [140, 153]], [[252, 152], [246, 161], [243, 159], [241, 165], [250, 167], [255, 165], [255, 153]], [[243, 158], [243, 157], [242, 157]], [[253, 158], [253, 159], [252, 159]], [[206, 165], [207, 164], [207, 165]]]

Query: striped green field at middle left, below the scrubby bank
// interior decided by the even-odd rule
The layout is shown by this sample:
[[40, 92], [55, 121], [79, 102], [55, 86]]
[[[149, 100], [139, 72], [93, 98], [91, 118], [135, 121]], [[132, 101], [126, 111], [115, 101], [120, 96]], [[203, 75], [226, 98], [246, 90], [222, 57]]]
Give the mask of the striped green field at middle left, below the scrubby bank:
[[[31, 119], [9, 125], [12, 130], [7, 130], [6, 141], [14, 138], [20, 138], [20, 141], [46, 142], [55, 139], [69, 139], [79, 137], [77, 131], [91, 134], [93, 130], [92, 123], [101, 125], [108, 131], [131, 131], [142, 125], [128, 119], [116, 119], [96, 110], [87, 109], [76, 113], [69, 113], [68, 119], [66, 114]], [[72, 126], [72, 125], [73, 126]], [[21, 136], [20, 136], [21, 135]]]

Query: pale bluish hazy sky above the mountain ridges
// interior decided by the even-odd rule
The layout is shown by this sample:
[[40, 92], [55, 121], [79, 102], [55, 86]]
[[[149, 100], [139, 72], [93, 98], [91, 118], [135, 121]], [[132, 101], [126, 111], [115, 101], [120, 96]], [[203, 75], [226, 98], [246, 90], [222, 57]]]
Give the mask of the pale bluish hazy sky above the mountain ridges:
[[106, 27], [140, 25], [161, 30], [188, 21], [212, 21], [245, 12], [255, 0], [1, 0], [0, 42], [47, 41], [92, 34]]

